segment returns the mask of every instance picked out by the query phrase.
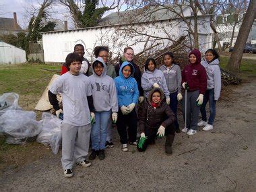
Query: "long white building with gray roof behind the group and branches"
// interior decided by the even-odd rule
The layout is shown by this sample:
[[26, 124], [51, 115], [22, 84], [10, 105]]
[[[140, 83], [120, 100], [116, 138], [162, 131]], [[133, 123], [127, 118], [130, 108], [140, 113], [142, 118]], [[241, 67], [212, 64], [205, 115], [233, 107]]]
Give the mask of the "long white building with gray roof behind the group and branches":
[[[138, 53], [143, 51], [147, 41], [147, 46], [160, 43], [158, 49], [161, 49], [161, 46], [163, 48], [172, 44], [170, 38], [177, 40], [188, 34], [185, 22], [168, 9], [156, 6], [151, 6], [150, 9], [155, 10], [151, 10], [151, 14], [146, 12], [137, 14], [137, 11], [144, 9], [111, 13], [102, 18], [95, 27], [43, 32], [44, 61], [46, 63], [65, 61], [65, 57], [73, 52], [73, 46], [77, 43], [85, 44], [85, 57], [88, 59], [92, 59], [92, 50], [98, 45], [108, 46], [113, 57], [117, 57], [122, 54], [125, 46], [133, 46], [135, 53]], [[186, 20], [193, 24], [191, 7], [184, 6], [182, 11]], [[199, 47], [201, 51], [206, 51], [212, 48], [210, 16], [198, 13], [198, 18]], [[148, 36], [155, 38], [148, 39]]]

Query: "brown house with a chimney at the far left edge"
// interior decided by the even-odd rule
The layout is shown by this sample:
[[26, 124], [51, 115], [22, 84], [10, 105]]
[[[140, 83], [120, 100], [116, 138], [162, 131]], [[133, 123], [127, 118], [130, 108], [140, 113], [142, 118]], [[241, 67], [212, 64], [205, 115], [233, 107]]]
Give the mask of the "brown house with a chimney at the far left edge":
[[14, 34], [18, 32], [24, 32], [17, 22], [17, 14], [13, 13], [13, 18], [0, 18], [0, 35]]

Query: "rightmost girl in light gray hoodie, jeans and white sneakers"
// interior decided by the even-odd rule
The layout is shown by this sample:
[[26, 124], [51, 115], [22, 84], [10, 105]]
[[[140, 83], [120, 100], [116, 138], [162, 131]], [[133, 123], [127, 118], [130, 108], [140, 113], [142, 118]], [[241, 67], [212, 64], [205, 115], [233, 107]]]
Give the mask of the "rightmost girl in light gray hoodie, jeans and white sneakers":
[[[222, 78], [219, 66], [219, 55], [214, 49], [208, 49], [205, 52], [205, 59], [201, 65], [205, 67], [207, 73], [207, 90], [203, 96], [203, 104], [201, 105], [200, 111], [202, 115], [202, 121], [200, 121], [198, 126], [203, 127], [203, 131], [209, 131], [214, 129], [214, 119], [216, 115], [216, 101], [220, 97], [220, 90], [222, 86]], [[210, 106], [210, 117], [207, 121], [205, 106], [209, 101]]]

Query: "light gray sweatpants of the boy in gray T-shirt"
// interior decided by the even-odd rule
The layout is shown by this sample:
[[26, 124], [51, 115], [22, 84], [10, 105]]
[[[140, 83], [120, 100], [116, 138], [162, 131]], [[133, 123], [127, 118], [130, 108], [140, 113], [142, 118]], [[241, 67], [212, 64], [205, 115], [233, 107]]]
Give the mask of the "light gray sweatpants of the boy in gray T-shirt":
[[92, 125], [74, 126], [61, 124], [63, 170], [73, 168], [73, 163], [86, 160]]

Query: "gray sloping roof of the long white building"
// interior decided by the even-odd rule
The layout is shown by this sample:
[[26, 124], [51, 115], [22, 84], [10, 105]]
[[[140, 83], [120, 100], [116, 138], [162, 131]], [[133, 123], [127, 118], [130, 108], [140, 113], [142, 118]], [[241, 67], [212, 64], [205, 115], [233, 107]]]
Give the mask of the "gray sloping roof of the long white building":
[[115, 24], [135, 24], [135, 23], [141, 23], [141, 22], [155, 22], [155, 21], [162, 21], [162, 20], [170, 20], [178, 17], [177, 17], [177, 14], [174, 13], [173, 11], [170, 11], [168, 7], [171, 7], [172, 9], [174, 9], [174, 11], [177, 11], [177, 13], [181, 13], [181, 10], [184, 11], [188, 7], [188, 5], [182, 5], [182, 7], [180, 7], [179, 5], [177, 5], [176, 7], [172, 7], [172, 6], [171, 5], [150, 5], [140, 9], [110, 13], [105, 18], [102, 18], [102, 20], [100, 20], [100, 22], [98, 23], [98, 26], [115, 25]]

